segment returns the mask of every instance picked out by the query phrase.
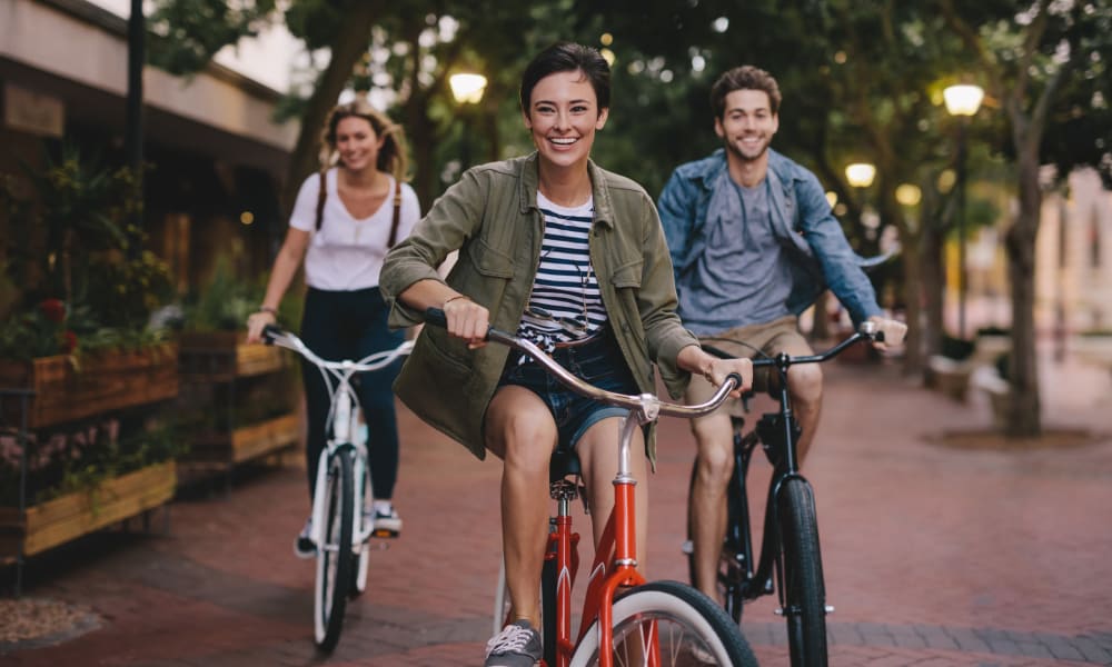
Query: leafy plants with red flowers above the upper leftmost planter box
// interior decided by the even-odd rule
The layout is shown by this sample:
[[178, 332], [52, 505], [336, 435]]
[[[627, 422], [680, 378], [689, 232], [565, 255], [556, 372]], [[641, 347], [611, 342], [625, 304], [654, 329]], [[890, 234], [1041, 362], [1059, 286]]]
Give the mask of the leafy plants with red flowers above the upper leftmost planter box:
[[[41, 170], [24, 166], [30, 192], [13, 180], [0, 196], [14, 229], [41, 238], [0, 239], [7, 312], [0, 358], [27, 360], [165, 340], [149, 318], [172, 298], [169, 269], [138, 251], [143, 236], [128, 223], [142, 207], [141, 178], [110, 169], [63, 146]], [[33, 269], [33, 270], [32, 270]], [[19, 285], [17, 288], [16, 286]]]

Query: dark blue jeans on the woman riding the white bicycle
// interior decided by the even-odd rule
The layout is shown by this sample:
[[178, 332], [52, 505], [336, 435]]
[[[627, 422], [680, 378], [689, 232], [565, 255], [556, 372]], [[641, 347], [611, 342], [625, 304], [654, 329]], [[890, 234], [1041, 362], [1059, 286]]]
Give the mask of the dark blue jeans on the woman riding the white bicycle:
[[[377, 287], [354, 291], [309, 288], [301, 319], [301, 340], [322, 359], [358, 360], [371, 352], [393, 349], [405, 332], [386, 325], [388, 309]], [[376, 498], [391, 498], [398, 479], [398, 421], [394, 412], [391, 385], [401, 369], [398, 359], [390, 366], [357, 376], [353, 386], [359, 396], [367, 422], [367, 451]], [[317, 480], [317, 462], [326, 445], [329, 394], [316, 366], [301, 364], [309, 432], [305, 456], [309, 471], [309, 498]]]

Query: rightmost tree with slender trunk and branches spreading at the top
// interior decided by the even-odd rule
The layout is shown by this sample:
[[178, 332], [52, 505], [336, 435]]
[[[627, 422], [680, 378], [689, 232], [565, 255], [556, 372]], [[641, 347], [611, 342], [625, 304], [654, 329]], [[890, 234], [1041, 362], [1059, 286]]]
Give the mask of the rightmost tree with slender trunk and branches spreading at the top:
[[[1053, 123], [1063, 106], [1069, 109], [1086, 94], [1092, 106], [1102, 94], [1101, 84], [1109, 90], [1112, 12], [1108, 0], [1000, 0], [960, 8], [953, 0], [940, 0], [940, 8], [975, 58], [1010, 128], [1019, 211], [1005, 236], [1012, 295], [1011, 400], [1005, 430], [1012, 437], [1035, 437], [1042, 422], [1034, 255], [1042, 208], [1040, 168], [1051, 158], [1043, 153], [1044, 140], [1058, 135]], [[1075, 163], [1076, 157], [1083, 156], [1070, 160]]]

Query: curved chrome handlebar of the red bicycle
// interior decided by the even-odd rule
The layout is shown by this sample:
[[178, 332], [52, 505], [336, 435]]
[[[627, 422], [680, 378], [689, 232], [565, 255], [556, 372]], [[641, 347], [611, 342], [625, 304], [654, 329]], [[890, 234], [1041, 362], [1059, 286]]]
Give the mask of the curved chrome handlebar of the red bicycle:
[[[428, 308], [425, 310], [425, 322], [435, 327], [440, 327], [441, 329], [446, 329], [448, 327], [447, 317], [444, 315], [444, 310], [439, 308]], [[718, 387], [718, 390], [715, 391], [714, 396], [712, 396], [709, 400], [694, 406], [685, 406], [682, 404], [661, 400], [654, 394], [618, 394], [595, 387], [594, 385], [585, 382], [568, 372], [567, 369], [557, 364], [552, 357], [545, 354], [544, 350], [532, 341], [518, 338], [513, 334], [507, 334], [506, 331], [502, 331], [494, 327], [487, 327], [487, 334], [484, 340], [502, 344], [510, 349], [533, 357], [536, 359], [537, 364], [552, 374], [562, 385], [580, 396], [612, 406], [639, 410], [642, 415], [651, 421], [655, 420], [659, 415], [667, 415], [671, 417], [698, 417], [701, 415], [706, 415], [721, 406], [723, 401], [726, 400], [729, 392], [739, 387], [742, 384], [741, 376], [737, 374], [729, 374], [726, 377], [726, 381]]]

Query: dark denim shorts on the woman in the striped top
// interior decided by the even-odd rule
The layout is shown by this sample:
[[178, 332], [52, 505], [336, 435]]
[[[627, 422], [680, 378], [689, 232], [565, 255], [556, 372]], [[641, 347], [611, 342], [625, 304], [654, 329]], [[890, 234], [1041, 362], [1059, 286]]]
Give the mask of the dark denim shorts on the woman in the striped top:
[[[556, 348], [552, 357], [572, 375], [596, 387], [619, 394], [641, 392], [609, 328], [587, 342]], [[583, 434], [597, 421], [608, 417], [625, 417], [629, 414], [626, 408], [579, 396], [564, 387], [533, 359], [519, 364], [520, 358], [519, 352], [509, 355], [498, 386], [525, 387], [545, 401], [556, 421], [560, 449], [574, 448]]]

